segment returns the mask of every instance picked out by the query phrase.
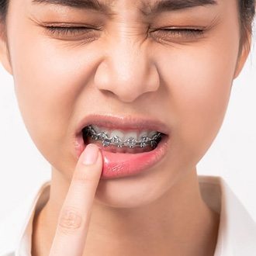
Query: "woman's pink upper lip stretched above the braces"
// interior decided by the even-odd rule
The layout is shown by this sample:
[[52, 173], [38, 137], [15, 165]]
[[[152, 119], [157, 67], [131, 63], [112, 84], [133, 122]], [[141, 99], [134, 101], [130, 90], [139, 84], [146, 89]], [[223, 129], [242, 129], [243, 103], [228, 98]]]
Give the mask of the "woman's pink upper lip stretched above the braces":
[[143, 116], [88, 115], [78, 123], [76, 134], [81, 133], [81, 130], [90, 124], [115, 130], [156, 130], [164, 134], [169, 133], [168, 126], [157, 119], [146, 119]]

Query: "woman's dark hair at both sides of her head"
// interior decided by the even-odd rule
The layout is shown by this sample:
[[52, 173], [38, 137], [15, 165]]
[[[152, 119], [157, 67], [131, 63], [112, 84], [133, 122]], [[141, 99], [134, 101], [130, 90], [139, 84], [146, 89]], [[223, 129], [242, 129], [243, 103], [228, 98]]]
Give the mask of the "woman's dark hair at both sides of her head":
[[[237, 0], [240, 15], [240, 46], [248, 43], [248, 34], [252, 33], [255, 16], [255, 0]], [[0, 22], [5, 22], [9, 0], [0, 0]]]

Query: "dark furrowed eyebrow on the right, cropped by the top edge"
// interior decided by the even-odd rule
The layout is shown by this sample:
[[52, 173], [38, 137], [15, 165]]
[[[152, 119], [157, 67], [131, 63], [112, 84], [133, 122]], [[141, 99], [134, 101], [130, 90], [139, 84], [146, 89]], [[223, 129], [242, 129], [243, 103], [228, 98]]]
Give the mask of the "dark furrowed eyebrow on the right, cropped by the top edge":
[[153, 5], [143, 3], [141, 9], [144, 15], [157, 14], [159, 12], [171, 12], [182, 9], [189, 9], [204, 5], [217, 5], [216, 0], [158, 0]]

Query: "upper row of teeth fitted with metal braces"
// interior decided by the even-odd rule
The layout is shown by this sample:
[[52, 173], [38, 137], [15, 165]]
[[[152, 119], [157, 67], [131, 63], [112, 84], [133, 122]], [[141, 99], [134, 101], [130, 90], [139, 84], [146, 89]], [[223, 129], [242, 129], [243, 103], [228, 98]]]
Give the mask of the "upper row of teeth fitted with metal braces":
[[99, 126], [87, 126], [86, 132], [94, 140], [102, 140], [104, 147], [115, 145], [117, 147], [156, 147], [161, 140], [161, 133], [157, 131], [130, 131], [124, 133], [121, 130], [109, 130]]

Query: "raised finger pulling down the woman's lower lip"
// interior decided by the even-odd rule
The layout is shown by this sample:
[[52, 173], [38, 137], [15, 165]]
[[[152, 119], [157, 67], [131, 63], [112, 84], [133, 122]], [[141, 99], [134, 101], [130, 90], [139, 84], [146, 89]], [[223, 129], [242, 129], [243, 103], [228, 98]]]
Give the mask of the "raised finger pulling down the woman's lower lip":
[[71, 185], [61, 208], [50, 256], [82, 255], [101, 173], [102, 154], [99, 147], [89, 144], [79, 157], [74, 170]]

